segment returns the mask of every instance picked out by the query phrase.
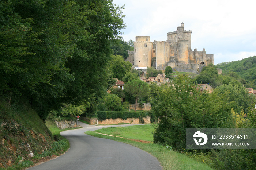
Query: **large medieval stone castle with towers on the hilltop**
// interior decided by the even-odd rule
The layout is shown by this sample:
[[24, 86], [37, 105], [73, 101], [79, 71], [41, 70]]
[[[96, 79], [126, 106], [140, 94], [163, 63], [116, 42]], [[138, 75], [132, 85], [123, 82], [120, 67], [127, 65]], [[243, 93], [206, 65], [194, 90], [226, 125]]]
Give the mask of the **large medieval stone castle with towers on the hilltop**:
[[200, 73], [208, 64], [213, 64], [213, 54], [191, 50], [192, 31], [184, 30], [184, 23], [177, 27], [177, 31], [167, 33], [166, 41], [150, 41], [150, 36], [136, 36], [134, 51], [128, 51], [127, 61], [133, 67], [154, 67], [164, 70], [171, 66], [179, 72]]

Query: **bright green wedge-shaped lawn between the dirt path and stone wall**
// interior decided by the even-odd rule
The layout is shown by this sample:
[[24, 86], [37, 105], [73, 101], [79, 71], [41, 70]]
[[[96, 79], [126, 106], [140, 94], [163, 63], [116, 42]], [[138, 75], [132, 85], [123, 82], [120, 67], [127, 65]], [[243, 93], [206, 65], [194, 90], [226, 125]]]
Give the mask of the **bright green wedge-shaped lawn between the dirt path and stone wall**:
[[109, 127], [98, 129], [95, 132], [120, 136], [129, 139], [153, 141], [152, 133], [157, 125], [138, 125], [129, 127]]

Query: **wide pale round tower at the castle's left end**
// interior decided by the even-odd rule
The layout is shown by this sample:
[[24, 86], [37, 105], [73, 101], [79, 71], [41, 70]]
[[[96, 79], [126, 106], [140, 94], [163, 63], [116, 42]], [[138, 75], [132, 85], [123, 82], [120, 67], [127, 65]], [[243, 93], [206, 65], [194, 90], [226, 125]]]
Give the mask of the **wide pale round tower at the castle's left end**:
[[150, 36], [136, 36], [136, 41], [134, 42], [134, 65], [151, 67], [151, 49]]

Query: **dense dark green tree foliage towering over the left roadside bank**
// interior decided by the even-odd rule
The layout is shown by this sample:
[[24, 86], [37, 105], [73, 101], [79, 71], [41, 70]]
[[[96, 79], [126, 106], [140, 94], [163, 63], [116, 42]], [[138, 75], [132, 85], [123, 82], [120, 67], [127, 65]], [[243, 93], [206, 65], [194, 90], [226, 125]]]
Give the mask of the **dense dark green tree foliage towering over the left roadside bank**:
[[0, 1], [0, 96], [25, 96], [45, 119], [102, 93], [121, 9], [112, 0]]

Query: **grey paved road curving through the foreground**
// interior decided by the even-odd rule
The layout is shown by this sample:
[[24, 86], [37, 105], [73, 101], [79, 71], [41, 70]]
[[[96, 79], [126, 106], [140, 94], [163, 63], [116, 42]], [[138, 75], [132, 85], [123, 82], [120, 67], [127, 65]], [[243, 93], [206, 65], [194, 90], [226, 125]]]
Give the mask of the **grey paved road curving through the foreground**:
[[[91, 126], [61, 132], [70, 142], [70, 149], [56, 159], [29, 170], [161, 170], [159, 161], [147, 152], [114, 140], [84, 134], [110, 126]], [[129, 126], [129, 125], [114, 125]]]

